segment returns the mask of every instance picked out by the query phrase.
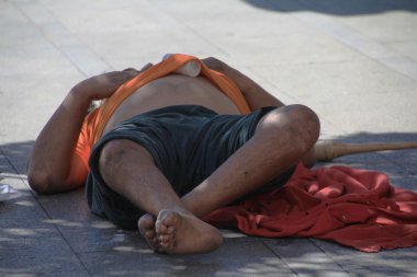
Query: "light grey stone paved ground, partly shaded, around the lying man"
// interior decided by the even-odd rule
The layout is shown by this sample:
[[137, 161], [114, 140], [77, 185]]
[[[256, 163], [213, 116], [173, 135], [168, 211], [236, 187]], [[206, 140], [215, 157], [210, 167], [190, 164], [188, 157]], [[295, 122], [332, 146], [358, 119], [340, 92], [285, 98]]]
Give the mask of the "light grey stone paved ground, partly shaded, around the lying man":
[[[364, 254], [232, 231], [212, 254], [153, 254], [92, 216], [82, 189], [37, 196], [24, 170], [72, 84], [165, 53], [224, 59], [285, 103], [312, 106], [325, 138], [417, 140], [416, 12], [405, 0], [0, 0], [0, 183], [23, 193], [0, 204], [0, 275], [417, 276], [417, 247]], [[416, 150], [336, 162], [417, 189]]]

